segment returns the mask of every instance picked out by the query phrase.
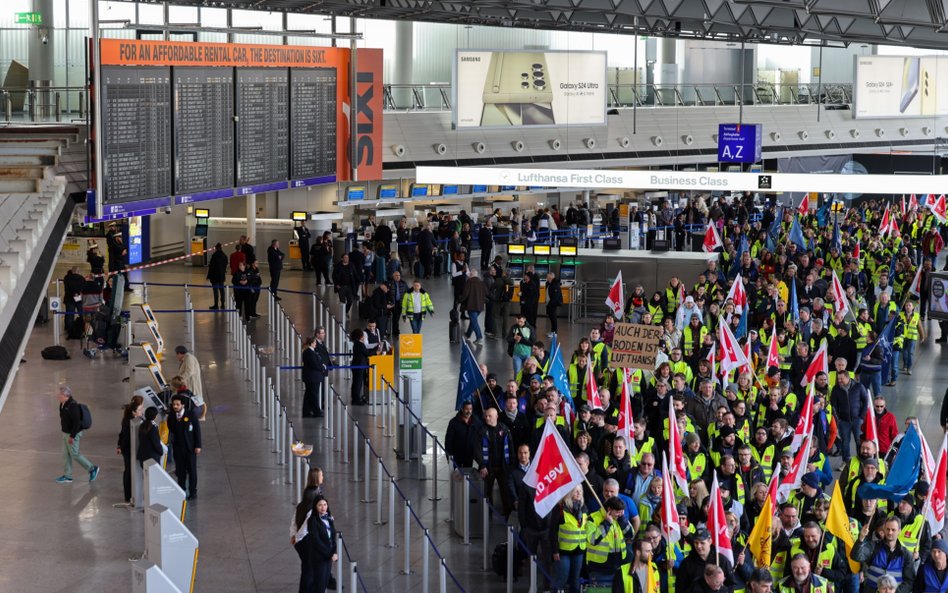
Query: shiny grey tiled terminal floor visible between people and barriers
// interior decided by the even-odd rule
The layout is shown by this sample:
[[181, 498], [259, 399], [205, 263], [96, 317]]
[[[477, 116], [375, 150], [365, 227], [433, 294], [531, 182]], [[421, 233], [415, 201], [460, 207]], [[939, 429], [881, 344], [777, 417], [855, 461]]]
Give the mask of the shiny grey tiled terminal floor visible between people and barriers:
[[[194, 282], [204, 273], [172, 265], [149, 270], [134, 280], [150, 282]], [[284, 272], [282, 287], [312, 288], [312, 278], [302, 272]], [[431, 430], [443, 435], [453, 415], [460, 346], [447, 340], [446, 303], [450, 287], [444, 277], [426, 283], [438, 314], [425, 323], [424, 418]], [[177, 308], [183, 303], [180, 290], [150, 287], [153, 307]], [[329, 297], [330, 299], [332, 297]], [[209, 291], [195, 289], [197, 306], [210, 304]], [[310, 300], [287, 295], [283, 305], [299, 327], [312, 325]], [[265, 313], [265, 306], [261, 307]], [[159, 321], [170, 345], [186, 340], [183, 316], [160, 315]], [[254, 322], [255, 338], [261, 346], [271, 344], [266, 317]], [[189, 505], [186, 524], [201, 542], [196, 591], [289, 592], [297, 589], [299, 560], [287, 541], [287, 525], [293, 510], [293, 489], [284, 484], [281, 468], [274, 465], [273, 442], [266, 440], [258, 408], [252, 403], [247, 384], [237, 376], [231, 337], [222, 319], [198, 316], [197, 353], [204, 365], [205, 387], [211, 411], [203, 425], [205, 448], [199, 460], [200, 498]], [[541, 319], [540, 330], [545, 330]], [[937, 337], [937, 325], [929, 324]], [[571, 349], [588, 326], [567, 327], [561, 323], [565, 348]], [[82, 357], [78, 344], [68, 342], [69, 361], [45, 361], [40, 350], [52, 343], [50, 326], [37, 327], [30, 338], [26, 362], [21, 366], [13, 390], [0, 413], [0, 591], [124, 591], [129, 588], [127, 558], [143, 546], [142, 515], [112, 508], [122, 498], [121, 458], [115, 454], [120, 407], [128, 399], [127, 384], [121, 382], [125, 368], [110, 355], [96, 360]], [[479, 360], [503, 378], [511, 371], [505, 348], [488, 340], [475, 349]], [[906, 415], [917, 415], [930, 444], [937, 449], [942, 431], [938, 411], [948, 387], [948, 349], [932, 339], [918, 348], [918, 363], [911, 377], [900, 377], [897, 388], [886, 388], [890, 409], [900, 423]], [[168, 368], [175, 366], [171, 362]], [[267, 361], [272, 364], [272, 361]], [[66, 381], [78, 398], [90, 405], [95, 425], [83, 439], [82, 449], [103, 469], [92, 485], [77, 481], [61, 486], [53, 479], [62, 473], [56, 386]], [[336, 385], [348, 393], [348, 385]], [[362, 483], [352, 481], [352, 465], [343, 464], [333, 452], [338, 441], [328, 438], [323, 420], [299, 418], [298, 391], [287, 395], [291, 419], [302, 426], [303, 440], [316, 445], [312, 460], [326, 469], [327, 495], [337, 526], [344, 533], [349, 553], [358, 561], [359, 573], [368, 591], [408, 591], [420, 588], [422, 548], [420, 530], [412, 525], [412, 575], [403, 576], [403, 506], [398, 499], [396, 547], [385, 546], [388, 526], [376, 525], [376, 505], [360, 502]], [[348, 398], [346, 398], [348, 399]], [[501, 590], [501, 581], [482, 570], [483, 546], [475, 539], [470, 546], [460, 542], [447, 523], [450, 517], [448, 471], [443, 459], [438, 466], [440, 502], [429, 501], [433, 481], [418, 480], [419, 472], [432, 477], [431, 456], [423, 467], [395, 457], [393, 439], [383, 436], [378, 418], [356, 409], [355, 417], [366, 430], [389, 470], [398, 476], [398, 488], [411, 499], [420, 521], [447, 558], [447, 565], [464, 590]], [[367, 427], [367, 428], [366, 428]], [[430, 443], [429, 443], [430, 447]], [[360, 464], [361, 467], [361, 464]], [[373, 475], [374, 475], [373, 471]], [[372, 484], [375, 498], [375, 484]], [[386, 490], [383, 500], [387, 502]], [[384, 512], [387, 514], [387, 504]], [[472, 517], [479, 521], [480, 516]], [[491, 528], [489, 549], [504, 538], [502, 526]], [[437, 590], [437, 562], [431, 557], [430, 585]], [[450, 577], [448, 590], [458, 590]], [[521, 581], [518, 590], [526, 590]]]

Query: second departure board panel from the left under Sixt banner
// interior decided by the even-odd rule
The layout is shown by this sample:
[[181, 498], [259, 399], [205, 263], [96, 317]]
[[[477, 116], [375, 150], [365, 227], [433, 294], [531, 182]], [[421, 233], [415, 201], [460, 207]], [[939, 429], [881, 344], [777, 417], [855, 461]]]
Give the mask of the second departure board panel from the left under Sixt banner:
[[234, 69], [174, 69], [175, 194], [234, 185]]

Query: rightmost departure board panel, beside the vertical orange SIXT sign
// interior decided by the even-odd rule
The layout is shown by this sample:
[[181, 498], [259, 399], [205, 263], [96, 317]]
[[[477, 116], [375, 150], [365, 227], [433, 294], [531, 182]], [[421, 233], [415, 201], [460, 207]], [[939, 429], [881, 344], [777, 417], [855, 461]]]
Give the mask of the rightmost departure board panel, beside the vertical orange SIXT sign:
[[336, 69], [290, 70], [290, 178], [336, 175]]

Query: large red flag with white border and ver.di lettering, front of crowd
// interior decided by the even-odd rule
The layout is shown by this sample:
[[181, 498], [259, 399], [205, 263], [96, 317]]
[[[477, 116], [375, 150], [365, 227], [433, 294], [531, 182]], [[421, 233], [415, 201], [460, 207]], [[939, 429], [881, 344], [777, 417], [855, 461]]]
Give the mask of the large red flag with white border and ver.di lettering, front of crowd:
[[585, 479], [569, 447], [556, 430], [551, 418], [546, 419], [537, 454], [527, 467], [523, 483], [536, 489], [533, 506], [540, 517], [546, 517], [553, 507]]

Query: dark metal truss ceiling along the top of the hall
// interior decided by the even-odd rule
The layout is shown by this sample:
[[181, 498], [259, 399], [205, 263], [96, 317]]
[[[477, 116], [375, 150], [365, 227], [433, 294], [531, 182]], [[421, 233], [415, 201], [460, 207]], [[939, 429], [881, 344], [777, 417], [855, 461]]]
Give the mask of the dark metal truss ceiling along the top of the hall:
[[176, 0], [176, 4], [535, 29], [948, 49], [948, 0]]

